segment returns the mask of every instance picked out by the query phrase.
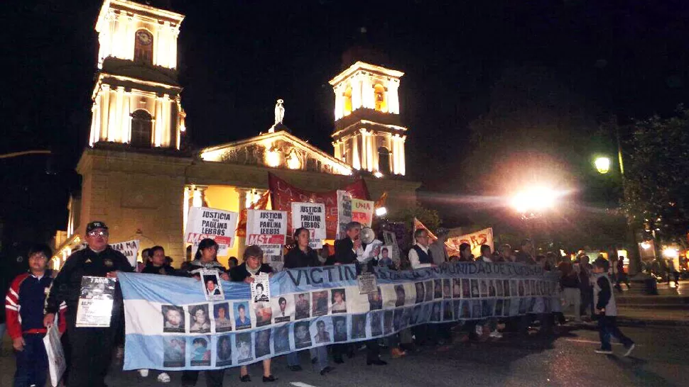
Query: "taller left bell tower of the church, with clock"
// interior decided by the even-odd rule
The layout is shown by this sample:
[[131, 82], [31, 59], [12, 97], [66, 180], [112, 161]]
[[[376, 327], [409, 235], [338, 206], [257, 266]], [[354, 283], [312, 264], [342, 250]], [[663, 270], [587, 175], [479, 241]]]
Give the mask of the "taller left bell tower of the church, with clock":
[[177, 77], [183, 15], [105, 0], [96, 23], [98, 69], [89, 145], [179, 149], [185, 130]]

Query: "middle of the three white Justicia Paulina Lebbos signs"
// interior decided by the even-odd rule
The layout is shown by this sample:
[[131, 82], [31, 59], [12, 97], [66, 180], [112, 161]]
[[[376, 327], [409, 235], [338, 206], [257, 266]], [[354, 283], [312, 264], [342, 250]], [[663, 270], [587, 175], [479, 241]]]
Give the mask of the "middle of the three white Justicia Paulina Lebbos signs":
[[246, 212], [246, 245], [259, 245], [266, 255], [281, 255], [287, 237], [287, 211]]

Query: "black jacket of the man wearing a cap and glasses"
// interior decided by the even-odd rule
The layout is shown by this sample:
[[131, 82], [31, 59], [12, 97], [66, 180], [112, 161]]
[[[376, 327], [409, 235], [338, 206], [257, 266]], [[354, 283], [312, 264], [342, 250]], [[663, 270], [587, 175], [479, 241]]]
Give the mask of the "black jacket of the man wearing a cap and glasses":
[[[121, 252], [108, 246], [102, 252], [94, 252], [88, 247], [70, 255], [65, 266], [50, 286], [50, 293], [45, 300], [45, 313], [58, 313], [60, 303], [67, 303], [67, 313], [77, 313], [77, 302], [81, 293], [83, 276], [104, 277], [110, 271], [134, 271], [129, 261]], [[115, 292], [114, 305], [121, 304], [119, 284]], [[113, 311], [115, 314], [115, 311]]]

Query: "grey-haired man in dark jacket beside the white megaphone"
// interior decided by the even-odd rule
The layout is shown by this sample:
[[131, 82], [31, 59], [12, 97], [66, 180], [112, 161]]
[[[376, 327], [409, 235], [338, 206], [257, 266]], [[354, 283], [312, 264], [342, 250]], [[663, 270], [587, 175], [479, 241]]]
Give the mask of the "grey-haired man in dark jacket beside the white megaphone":
[[[364, 257], [366, 245], [362, 242], [360, 233], [362, 225], [359, 222], [349, 222], [345, 228], [347, 237], [342, 240], [335, 241], [335, 262], [336, 264], [357, 264], [357, 271], [367, 271], [369, 269], [370, 257]], [[386, 361], [380, 359], [380, 347], [378, 340], [369, 340], [366, 342], [367, 354], [366, 364], [375, 364], [376, 366], [384, 366]], [[344, 347], [337, 345], [335, 349], [335, 363], [342, 363], [342, 352]]]

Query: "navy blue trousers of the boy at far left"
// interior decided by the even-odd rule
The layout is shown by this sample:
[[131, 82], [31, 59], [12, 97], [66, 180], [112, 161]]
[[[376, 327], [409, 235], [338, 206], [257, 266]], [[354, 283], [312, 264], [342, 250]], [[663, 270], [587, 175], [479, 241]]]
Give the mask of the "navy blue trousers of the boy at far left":
[[17, 371], [14, 373], [14, 387], [28, 387], [32, 384], [45, 386], [48, 377], [48, 354], [43, 345], [43, 333], [24, 335], [23, 351], [15, 351]]

